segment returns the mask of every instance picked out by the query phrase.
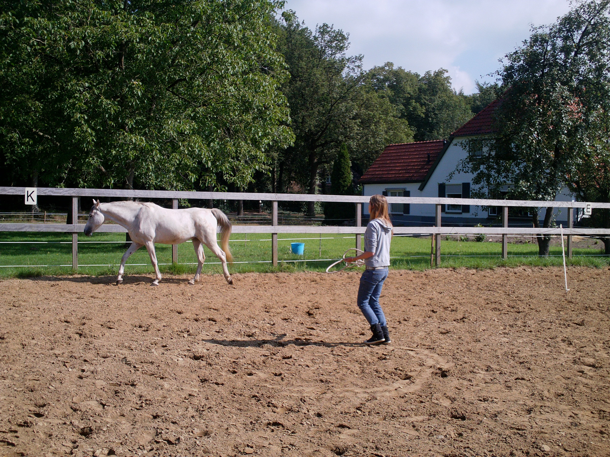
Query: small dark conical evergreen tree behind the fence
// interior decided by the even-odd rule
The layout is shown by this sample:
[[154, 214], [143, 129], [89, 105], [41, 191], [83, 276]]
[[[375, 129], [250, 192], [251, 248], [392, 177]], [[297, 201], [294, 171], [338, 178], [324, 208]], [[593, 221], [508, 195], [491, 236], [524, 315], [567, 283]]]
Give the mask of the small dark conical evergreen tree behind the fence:
[[[332, 164], [331, 194], [353, 195], [354, 180], [351, 174], [350, 153], [347, 145], [343, 143], [337, 158]], [[343, 222], [345, 219], [354, 218], [355, 207], [353, 203], [328, 202], [324, 205], [324, 218], [331, 224]]]

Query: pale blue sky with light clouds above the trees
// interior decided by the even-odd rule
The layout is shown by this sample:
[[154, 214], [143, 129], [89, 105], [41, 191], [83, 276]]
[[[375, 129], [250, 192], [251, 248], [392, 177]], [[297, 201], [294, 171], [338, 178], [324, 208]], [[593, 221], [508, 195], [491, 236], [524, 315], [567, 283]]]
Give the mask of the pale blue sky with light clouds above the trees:
[[349, 54], [369, 69], [393, 62], [419, 74], [445, 68], [453, 87], [476, 92], [498, 59], [529, 37], [532, 26], [554, 23], [569, 0], [287, 0], [310, 29], [334, 24], [350, 34]]

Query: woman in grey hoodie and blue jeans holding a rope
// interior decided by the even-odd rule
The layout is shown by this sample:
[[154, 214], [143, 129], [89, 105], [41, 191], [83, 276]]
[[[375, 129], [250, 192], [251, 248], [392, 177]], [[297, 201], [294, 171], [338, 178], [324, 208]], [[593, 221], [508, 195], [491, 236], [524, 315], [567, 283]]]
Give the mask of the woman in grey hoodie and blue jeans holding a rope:
[[392, 241], [392, 222], [387, 211], [387, 200], [382, 195], [373, 195], [368, 202], [370, 222], [364, 232], [364, 253], [358, 257], [346, 257], [347, 263], [364, 259], [366, 269], [360, 278], [358, 289], [358, 308], [371, 326], [373, 336], [365, 344], [388, 344], [390, 333], [387, 330], [386, 316], [379, 305], [381, 288], [387, 278], [390, 266], [390, 243]]

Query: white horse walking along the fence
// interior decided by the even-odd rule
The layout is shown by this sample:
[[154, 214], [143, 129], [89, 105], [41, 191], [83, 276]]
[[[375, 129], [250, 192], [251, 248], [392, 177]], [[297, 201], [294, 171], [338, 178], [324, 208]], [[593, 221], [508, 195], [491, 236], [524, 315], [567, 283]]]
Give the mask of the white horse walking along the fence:
[[[224, 279], [229, 284], [233, 283], [227, 261], [231, 263], [233, 258], [229, 250], [229, 236], [231, 236], [231, 222], [227, 216], [217, 208], [208, 210], [206, 208], [185, 208], [184, 210], [169, 210], [154, 203], [141, 202], [111, 202], [100, 203], [93, 200], [93, 207], [89, 212], [89, 219], [85, 225], [85, 235], [91, 236], [104, 219], [110, 219], [123, 225], [129, 232], [133, 243], [123, 254], [121, 266], [118, 269], [117, 284], [123, 282], [125, 262], [132, 253], [146, 246], [154, 266], [155, 280], [152, 286], [158, 286], [161, 280], [159, 266], [157, 266], [157, 255], [154, 251], [155, 243], [180, 244], [193, 241], [193, 248], [197, 255], [197, 272], [195, 278], [188, 283], [195, 284], [201, 277], [201, 268], [206, 256], [203, 253], [203, 244], [217, 255], [223, 264]], [[221, 250], [216, 243], [217, 224], [222, 228]], [[223, 252], [224, 251], [224, 252]]]

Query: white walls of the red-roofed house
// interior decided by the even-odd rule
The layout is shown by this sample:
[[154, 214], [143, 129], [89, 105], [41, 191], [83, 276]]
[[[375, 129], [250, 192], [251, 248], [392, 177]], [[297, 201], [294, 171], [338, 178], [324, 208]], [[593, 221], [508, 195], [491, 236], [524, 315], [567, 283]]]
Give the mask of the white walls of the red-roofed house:
[[[411, 197], [438, 197], [439, 196], [439, 183], [445, 183], [445, 194], [447, 197], [452, 193], [451, 190], [458, 192], [461, 190], [461, 186], [463, 183], [472, 183], [473, 175], [469, 173], [456, 173], [451, 177], [451, 180], [448, 179], [448, 176], [453, 172], [459, 165], [461, 160], [467, 158], [467, 151], [465, 151], [461, 146], [461, 141], [467, 140], [467, 137], [459, 137], [454, 139], [439, 164], [436, 166], [436, 169], [432, 172], [432, 175], [428, 182], [426, 183], [425, 188], [422, 191], [419, 190], [419, 186], [421, 183], [392, 183], [392, 184], [364, 184], [363, 195], [371, 196], [375, 194], [382, 194], [383, 191], [392, 191], [392, 190], [406, 190], [410, 191]], [[390, 193], [388, 193], [390, 195]], [[565, 188], [561, 193], [558, 194], [556, 200], [558, 201], [572, 201], [574, 199], [573, 195], [570, 194], [569, 190]], [[368, 214], [368, 205], [362, 205], [362, 212], [366, 215]], [[391, 211], [394, 214], [394, 217], [397, 219], [403, 219], [411, 222], [418, 221], [433, 221], [435, 216], [435, 205], [423, 205], [423, 204], [411, 204], [409, 207], [409, 216], [403, 216], [402, 218], [399, 214], [402, 214], [400, 205], [395, 205], [395, 208], [390, 208], [390, 210], [395, 209], [397, 211]], [[488, 211], [483, 211], [481, 207], [476, 207], [474, 205], [470, 205], [470, 212], [465, 213], [462, 212], [459, 207], [453, 208], [445, 208], [445, 213], [442, 214], [442, 219], [451, 222], [451, 219], [454, 219], [458, 224], [459, 223], [470, 223], [477, 222], [474, 219], [480, 219], [479, 222], [485, 222], [489, 218]], [[540, 209], [539, 218], [542, 222], [544, 218], [546, 210]], [[558, 223], [563, 222], [564, 224], [567, 222], [567, 209], [558, 209], [554, 210], [555, 218]], [[575, 211], [576, 213], [576, 211]], [[575, 214], [576, 218], [576, 214]], [[427, 224], [425, 224], [427, 225]]]

